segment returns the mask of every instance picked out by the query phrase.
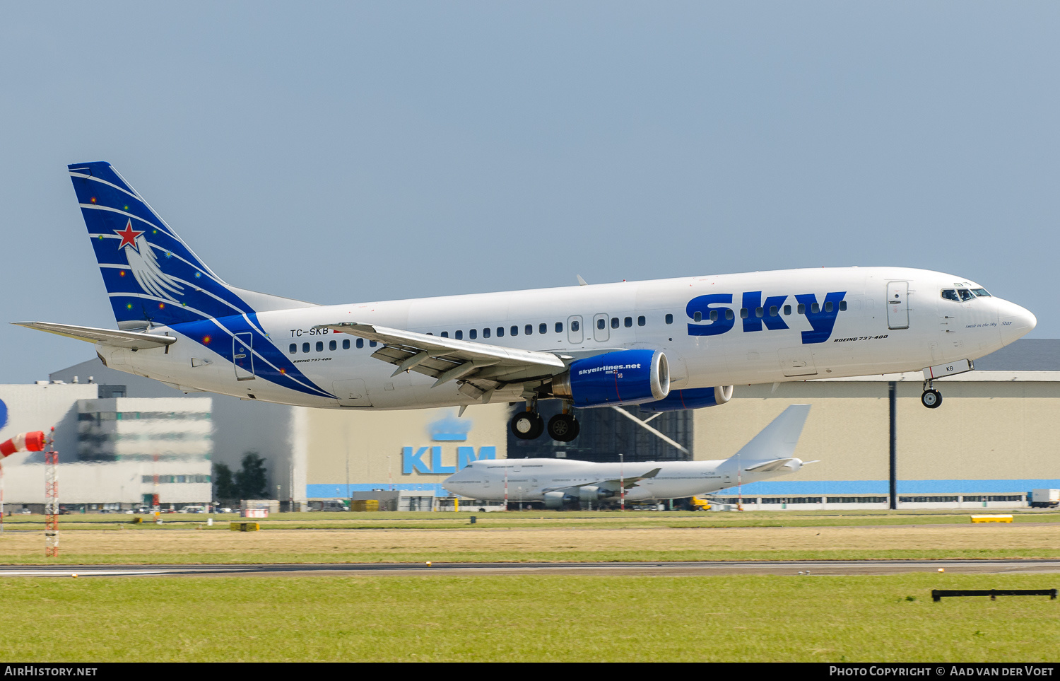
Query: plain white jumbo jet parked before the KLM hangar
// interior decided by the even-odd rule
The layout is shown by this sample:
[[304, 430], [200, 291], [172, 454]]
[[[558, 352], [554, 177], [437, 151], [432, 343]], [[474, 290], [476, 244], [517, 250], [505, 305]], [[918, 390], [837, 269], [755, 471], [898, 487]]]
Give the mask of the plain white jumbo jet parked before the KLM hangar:
[[809, 413], [809, 404], [789, 406], [739, 452], [725, 459], [628, 464], [562, 458], [484, 459], [454, 473], [442, 487], [470, 499], [545, 502], [547, 508], [591, 505], [600, 500], [614, 502], [620, 496], [635, 502], [709, 494], [799, 470], [805, 464], [792, 454]]

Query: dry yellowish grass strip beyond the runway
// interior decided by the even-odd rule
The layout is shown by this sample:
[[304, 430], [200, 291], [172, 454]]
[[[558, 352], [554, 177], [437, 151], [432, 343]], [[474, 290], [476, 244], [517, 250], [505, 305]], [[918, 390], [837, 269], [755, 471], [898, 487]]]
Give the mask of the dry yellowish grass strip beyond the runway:
[[[341, 516], [341, 513], [336, 513]], [[306, 516], [314, 516], [306, 513]], [[320, 516], [320, 514], [316, 514]], [[347, 513], [346, 516], [350, 516]], [[359, 514], [358, 514], [359, 516]], [[777, 560], [777, 559], [915, 559], [915, 558], [1058, 558], [1060, 523], [1018, 522], [972, 525], [967, 516], [923, 514], [948, 522], [906, 524], [803, 524], [834, 517], [772, 513], [765, 518], [700, 513], [673, 526], [665, 513], [648, 519], [620, 513], [543, 516], [493, 513], [475, 525], [456, 520], [423, 519], [428, 513], [389, 513], [399, 528], [333, 528], [321, 518], [317, 529], [304, 519], [269, 519], [257, 532], [234, 532], [227, 522], [197, 529], [197, 522], [162, 525], [101, 525], [100, 516], [64, 517], [59, 558], [43, 557], [43, 526], [5, 523], [0, 535], [0, 563], [247, 563], [247, 562], [457, 562], [457, 561], [636, 561], [636, 560]], [[410, 516], [406, 518], [406, 516]], [[436, 513], [434, 516], [445, 516]], [[449, 516], [454, 516], [450, 513]], [[691, 516], [691, 514], [689, 514]], [[764, 514], [763, 514], [764, 516]], [[719, 526], [719, 517], [744, 526]], [[921, 516], [917, 516], [920, 518]], [[1028, 514], [1035, 520], [1060, 514]], [[855, 516], [849, 520], [904, 521], [908, 514]], [[68, 520], [69, 519], [69, 520]], [[94, 521], [94, 522], [93, 522]], [[166, 518], [169, 521], [169, 518]], [[407, 522], [407, 527], [400, 524]], [[425, 529], [425, 522], [441, 526]], [[639, 524], [638, 524], [639, 523]], [[760, 523], [760, 524], [756, 524]], [[782, 526], [781, 526], [782, 524]], [[16, 528], [24, 529], [16, 529]]]

